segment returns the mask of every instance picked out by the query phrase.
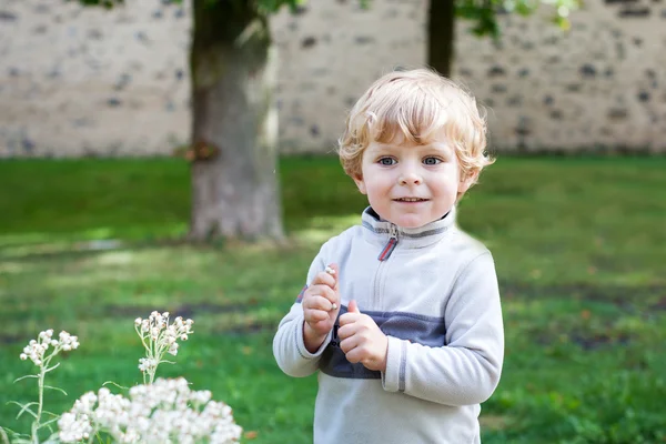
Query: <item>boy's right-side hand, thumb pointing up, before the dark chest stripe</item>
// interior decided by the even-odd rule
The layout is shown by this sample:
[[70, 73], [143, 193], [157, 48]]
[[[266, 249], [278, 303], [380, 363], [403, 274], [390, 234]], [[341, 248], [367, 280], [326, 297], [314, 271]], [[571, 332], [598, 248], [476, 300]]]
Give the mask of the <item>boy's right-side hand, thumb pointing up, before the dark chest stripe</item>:
[[367, 370], [386, 371], [389, 339], [367, 314], [361, 313], [356, 301], [340, 316], [340, 347], [349, 362], [360, 362]]

